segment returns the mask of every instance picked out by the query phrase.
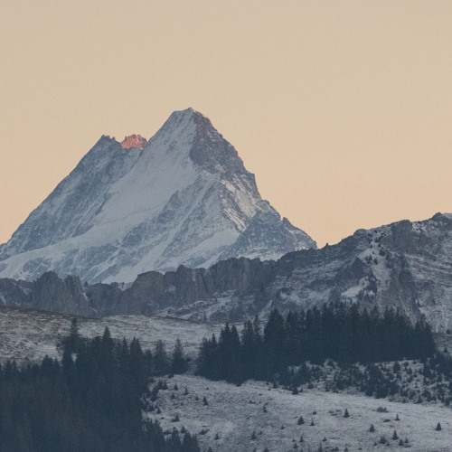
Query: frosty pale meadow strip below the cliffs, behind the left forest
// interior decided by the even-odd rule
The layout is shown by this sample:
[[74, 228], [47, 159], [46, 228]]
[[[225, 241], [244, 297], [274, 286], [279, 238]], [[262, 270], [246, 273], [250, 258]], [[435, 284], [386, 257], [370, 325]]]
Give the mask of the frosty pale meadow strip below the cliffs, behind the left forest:
[[[45, 355], [60, 356], [57, 344], [69, 334], [71, 316], [42, 311], [0, 307], [0, 362], [14, 359], [18, 363], [40, 361]], [[103, 319], [78, 318], [80, 334], [101, 335], [106, 326], [115, 339], [130, 342], [139, 339], [144, 349], [152, 349], [161, 339], [170, 352], [177, 337], [184, 351], [194, 357], [202, 337], [218, 334], [221, 326], [195, 323], [177, 318], [118, 315]]]

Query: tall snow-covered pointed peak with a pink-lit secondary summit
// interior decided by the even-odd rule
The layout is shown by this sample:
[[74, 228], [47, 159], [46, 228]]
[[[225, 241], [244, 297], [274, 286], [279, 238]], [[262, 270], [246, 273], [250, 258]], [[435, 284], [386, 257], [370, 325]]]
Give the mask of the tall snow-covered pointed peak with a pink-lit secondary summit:
[[101, 137], [0, 247], [0, 277], [52, 270], [132, 281], [147, 270], [278, 259], [315, 248], [260, 198], [237, 151], [208, 118], [174, 112], [148, 142]]

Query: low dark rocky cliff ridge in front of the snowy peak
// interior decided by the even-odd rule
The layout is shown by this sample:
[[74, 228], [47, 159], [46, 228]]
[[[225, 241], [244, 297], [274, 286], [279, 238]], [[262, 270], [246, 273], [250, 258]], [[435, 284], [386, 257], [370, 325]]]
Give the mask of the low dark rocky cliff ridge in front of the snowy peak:
[[[146, 272], [132, 283], [83, 285], [53, 273], [35, 282], [0, 279], [7, 306], [80, 315], [172, 315], [242, 321], [272, 307], [327, 302], [400, 309], [426, 318], [434, 331], [452, 329], [452, 215], [359, 230], [322, 250], [291, 252], [278, 261], [226, 259], [211, 268]], [[61, 307], [62, 306], [62, 307]]]

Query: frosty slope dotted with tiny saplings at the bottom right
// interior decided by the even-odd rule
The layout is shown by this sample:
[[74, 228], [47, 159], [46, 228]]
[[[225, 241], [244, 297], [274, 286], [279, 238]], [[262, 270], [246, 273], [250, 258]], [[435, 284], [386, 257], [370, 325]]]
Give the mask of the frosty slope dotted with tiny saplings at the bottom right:
[[[396, 403], [306, 389], [292, 395], [263, 382], [250, 381], [237, 387], [193, 375], [174, 376], [167, 385], [168, 390], [159, 391], [154, 402], [161, 413], [156, 414], [155, 408], [149, 416], [158, 420], [164, 430], [184, 426], [197, 434], [202, 446], [210, 446], [215, 452], [262, 452], [265, 447], [269, 452], [314, 452], [319, 446], [324, 451], [334, 447], [341, 451], [345, 447], [349, 451], [360, 450], [359, 447], [364, 451], [405, 447], [413, 452], [452, 450], [452, 410], [439, 405]], [[204, 397], [208, 405], [203, 404]], [[345, 409], [349, 418], [344, 418]], [[180, 420], [174, 422], [176, 415]], [[395, 420], [397, 415], [399, 421]], [[297, 424], [300, 416], [304, 425]], [[441, 431], [435, 429], [438, 422]], [[369, 431], [371, 424], [373, 433]], [[392, 439], [394, 430], [403, 446], [399, 446], [400, 439]], [[251, 439], [253, 431], [256, 439]], [[217, 434], [219, 439], [215, 439]], [[380, 444], [381, 437], [387, 439], [389, 446]]]

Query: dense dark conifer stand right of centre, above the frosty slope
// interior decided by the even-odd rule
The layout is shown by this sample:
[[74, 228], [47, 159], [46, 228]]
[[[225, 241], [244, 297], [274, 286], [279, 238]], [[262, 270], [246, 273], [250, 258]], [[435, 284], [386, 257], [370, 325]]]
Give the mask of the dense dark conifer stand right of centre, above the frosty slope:
[[374, 363], [425, 358], [434, 352], [427, 323], [412, 325], [391, 308], [381, 315], [376, 307], [368, 311], [339, 303], [289, 312], [286, 318], [274, 309], [265, 325], [256, 317], [245, 322], [240, 334], [235, 325], [226, 324], [218, 340], [215, 335], [202, 340], [196, 372], [233, 383], [284, 381], [293, 374], [291, 366], [307, 361]]

